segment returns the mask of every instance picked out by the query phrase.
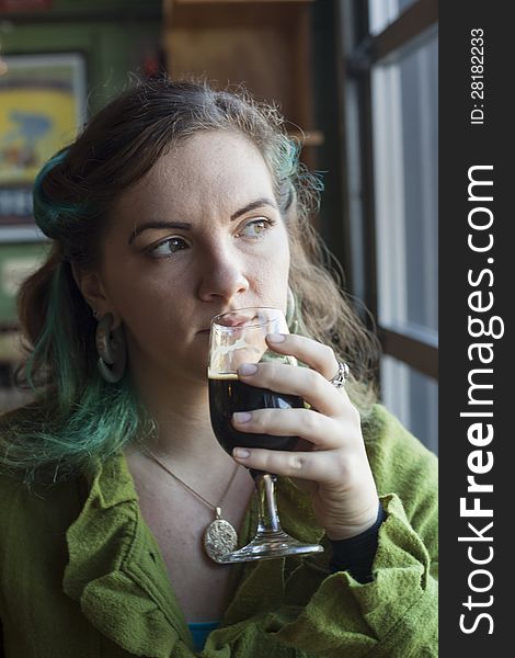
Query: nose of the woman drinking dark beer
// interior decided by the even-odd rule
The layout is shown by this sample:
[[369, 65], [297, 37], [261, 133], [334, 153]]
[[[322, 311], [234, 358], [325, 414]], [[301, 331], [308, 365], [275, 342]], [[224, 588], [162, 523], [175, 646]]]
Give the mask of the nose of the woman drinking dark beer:
[[206, 302], [222, 297], [227, 303], [249, 290], [249, 281], [237, 256], [218, 246], [203, 259], [198, 296]]

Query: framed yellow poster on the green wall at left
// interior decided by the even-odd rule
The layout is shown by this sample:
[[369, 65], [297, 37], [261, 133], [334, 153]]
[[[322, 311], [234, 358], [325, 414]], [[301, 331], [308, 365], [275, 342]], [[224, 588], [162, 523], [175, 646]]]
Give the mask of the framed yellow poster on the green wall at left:
[[0, 76], [0, 242], [35, 237], [32, 185], [85, 121], [80, 53], [4, 55]]

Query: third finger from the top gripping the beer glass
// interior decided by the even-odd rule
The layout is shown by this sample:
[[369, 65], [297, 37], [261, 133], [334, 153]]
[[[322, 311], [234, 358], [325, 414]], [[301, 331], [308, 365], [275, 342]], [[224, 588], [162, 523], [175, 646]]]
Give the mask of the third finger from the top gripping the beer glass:
[[232, 415], [232, 424], [240, 432], [298, 436], [318, 450], [342, 445], [342, 423], [310, 409], [258, 409]]

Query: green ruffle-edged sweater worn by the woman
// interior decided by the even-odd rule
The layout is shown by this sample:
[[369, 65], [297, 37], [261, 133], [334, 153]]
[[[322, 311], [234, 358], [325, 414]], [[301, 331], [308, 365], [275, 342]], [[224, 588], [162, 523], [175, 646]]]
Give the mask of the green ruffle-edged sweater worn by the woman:
[[[330, 574], [309, 498], [279, 478], [285, 530], [325, 552], [229, 567], [236, 595], [204, 658], [437, 656], [437, 462], [385, 408], [364, 424], [387, 518], [373, 582]], [[256, 522], [252, 502], [241, 529]], [[0, 477], [0, 620], [7, 658], [196, 655], [127, 463], [28, 492]], [[1, 651], [0, 651], [1, 655]]]

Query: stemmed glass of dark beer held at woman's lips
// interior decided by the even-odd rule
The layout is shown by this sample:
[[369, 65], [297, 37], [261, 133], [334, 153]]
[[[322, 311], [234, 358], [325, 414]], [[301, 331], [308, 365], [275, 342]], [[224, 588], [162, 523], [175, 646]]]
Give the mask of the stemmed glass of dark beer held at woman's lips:
[[[215, 435], [226, 452], [232, 449], [265, 447], [293, 451], [298, 436], [272, 436], [245, 433], [231, 423], [234, 411], [288, 409], [304, 407], [302, 398], [258, 388], [238, 378], [242, 363], [281, 361], [296, 365], [293, 356], [268, 350], [267, 333], [287, 333], [282, 310], [276, 308], [241, 308], [211, 319], [209, 340], [209, 410]], [[271, 559], [286, 555], [305, 555], [323, 551], [318, 544], [304, 544], [281, 527], [275, 501], [276, 476], [250, 469], [258, 492], [259, 523], [255, 537], [242, 548], [222, 556], [225, 564]]]

